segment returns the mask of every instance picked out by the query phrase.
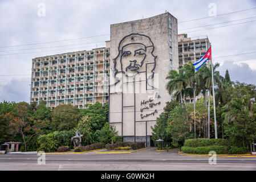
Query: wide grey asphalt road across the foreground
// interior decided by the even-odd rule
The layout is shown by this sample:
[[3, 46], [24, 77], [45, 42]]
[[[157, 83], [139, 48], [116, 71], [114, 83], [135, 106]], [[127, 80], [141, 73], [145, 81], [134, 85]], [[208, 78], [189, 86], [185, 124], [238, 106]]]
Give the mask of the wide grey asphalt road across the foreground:
[[217, 164], [211, 165], [209, 157], [182, 156], [177, 152], [157, 152], [156, 148], [148, 148], [131, 154], [46, 154], [46, 164], [38, 164], [36, 154], [6, 154], [0, 155], [0, 170], [256, 170], [256, 158], [217, 157]]

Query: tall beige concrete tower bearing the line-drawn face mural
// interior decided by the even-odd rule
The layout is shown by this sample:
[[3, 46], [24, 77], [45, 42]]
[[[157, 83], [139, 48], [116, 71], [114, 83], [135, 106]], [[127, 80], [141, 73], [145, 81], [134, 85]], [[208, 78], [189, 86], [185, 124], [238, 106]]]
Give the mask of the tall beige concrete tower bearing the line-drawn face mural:
[[164, 13], [110, 32], [109, 123], [124, 141], [151, 146], [151, 126], [170, 101], [165, 78], [178, 70], [177, 19]]

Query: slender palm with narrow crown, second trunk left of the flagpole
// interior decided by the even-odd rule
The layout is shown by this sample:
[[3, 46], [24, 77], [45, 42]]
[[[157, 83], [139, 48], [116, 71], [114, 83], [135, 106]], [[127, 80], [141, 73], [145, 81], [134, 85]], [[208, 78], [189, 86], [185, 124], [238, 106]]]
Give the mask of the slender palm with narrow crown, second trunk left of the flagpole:
[[[196, 117], [196, 80], [197, 74], [191, 61], [182, 68], [185, 70], [187, 84], [193, 88], [194, 118]], [[194, 138], [196, 138], [196, 121], [194, 120]]]

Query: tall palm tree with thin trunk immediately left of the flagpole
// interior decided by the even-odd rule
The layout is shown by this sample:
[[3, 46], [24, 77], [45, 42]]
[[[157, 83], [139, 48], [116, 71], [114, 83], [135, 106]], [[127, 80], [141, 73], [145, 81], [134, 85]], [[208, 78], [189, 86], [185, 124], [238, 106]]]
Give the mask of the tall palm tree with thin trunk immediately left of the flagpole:
[[[219, 63], [216, 63], [213, 65], [213, 81], [214, 83], [217, 83], [218, 85], [222, 85], [221, 81], [221, 75], [219, 71], [216, 71], [216, 68], [220, 66]], [[208, 88], [208, 138], [210, 138], [210, 94], [211, 94], [211, 89], [212, 89], [212, 68], [209, 65], [207, 67], [206, 65], [203, 65], [200, 68], [200, 72], [202, 74], [202, 78], [205, 80], [205, 86]], [[213, 88], [214, 89], [214, 88]]]

